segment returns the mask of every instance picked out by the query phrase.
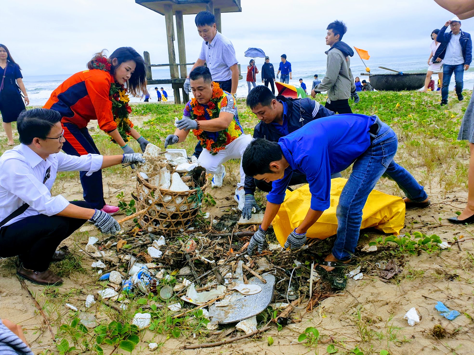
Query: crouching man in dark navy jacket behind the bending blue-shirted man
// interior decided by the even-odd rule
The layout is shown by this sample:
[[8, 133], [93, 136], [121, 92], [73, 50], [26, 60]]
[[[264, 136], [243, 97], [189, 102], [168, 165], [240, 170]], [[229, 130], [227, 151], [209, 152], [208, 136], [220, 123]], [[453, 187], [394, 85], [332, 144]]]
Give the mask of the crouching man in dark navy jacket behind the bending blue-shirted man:
[[[260, 122], [254, 128], [254, 138], [264, 138], [272, 142], [285, 135], [296, 131], [303, 125], [317, 118], [334, 115], [334, 112], [319, 105], [318, 101], [310, 98], [291, 99], [284, 96], [275, 97], [267, 87], [257, 86], [247, 96], [247, 106], [257, 116]], [[341, 177], [341, 174], [331, 175]], [[289, 185], [306, 184], [306, 175], [294, 173]], [[255, 187], [265, 192], [272, 190], [272, 183], [245, 177], [245, 199], [239, 203], [238, 209], [242, 211], [242, 217], [250, 219], [252, 208], [260, 211], [260, 206], [255, 202]]]

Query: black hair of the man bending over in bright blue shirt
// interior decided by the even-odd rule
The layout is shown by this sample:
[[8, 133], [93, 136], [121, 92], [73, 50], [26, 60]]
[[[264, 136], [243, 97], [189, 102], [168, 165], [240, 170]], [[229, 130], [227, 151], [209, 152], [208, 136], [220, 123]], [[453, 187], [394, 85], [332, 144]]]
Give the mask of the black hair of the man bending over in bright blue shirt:
[[272, 161], [281, 160], [282, 156], [282, 148], [280, 148], [277, 142], [257, 138], [251, 142], [244, 151], [244, 155], [242, 156], [242, 168], [244, 169], [245, 175], [251, 177], [273, 173], [273, 171], [270, 170], [270, 163]]

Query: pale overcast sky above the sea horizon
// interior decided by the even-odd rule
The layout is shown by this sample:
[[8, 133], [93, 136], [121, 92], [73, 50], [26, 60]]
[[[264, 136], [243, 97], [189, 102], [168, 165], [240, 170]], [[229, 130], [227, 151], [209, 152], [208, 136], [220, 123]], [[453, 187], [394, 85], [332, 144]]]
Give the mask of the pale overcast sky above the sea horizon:
[[[431, 31], [452, 17], [433, 0], [242, 0], [242, 12], [222, 14], [222, 32], [242, 64], [248, 47], [262, 48], [274, 64], [282, 53], [290, 62], [325, 60], [326, 27], [335, 19], [348, 27], [343, 41], [373, 57], [428, 59]], [[93, 53], [120, 46], [168, 63], [164, 16], [134, 0], [2, 1], [1, 26], [0, 43], [24, 76], [73, 74]], [[462, 28], [474, 31], [474, 19]], [[194, 62], [202, 43], [194, 15], [184, 16], [184, 33], [187, 62]], [[178, 59], [176, 42], [175, 51]]]

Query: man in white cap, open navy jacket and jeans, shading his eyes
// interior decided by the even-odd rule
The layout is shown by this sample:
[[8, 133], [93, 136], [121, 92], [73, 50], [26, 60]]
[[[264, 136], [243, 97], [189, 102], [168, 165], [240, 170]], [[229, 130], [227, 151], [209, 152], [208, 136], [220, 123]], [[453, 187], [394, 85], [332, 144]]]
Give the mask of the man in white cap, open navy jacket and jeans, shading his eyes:
[[[446, 33], [447, 27], [451, 32]], [[437, 41], [441, 44], [436, 51], [434, 58], [443, 59], [443, 86], [441, 88], [441, 106], [447, 105], [447, 94], [449, 91], [449, 82], [454, 72], [456, 80], [456, 94], [459, 101], [464, 99], [463, 76], [464, 71], [469, 69], [472, 60], [472, 41], [471, 35], [461, 30], [461, 21], [455, 17], [446, 21], [438, 32]]]

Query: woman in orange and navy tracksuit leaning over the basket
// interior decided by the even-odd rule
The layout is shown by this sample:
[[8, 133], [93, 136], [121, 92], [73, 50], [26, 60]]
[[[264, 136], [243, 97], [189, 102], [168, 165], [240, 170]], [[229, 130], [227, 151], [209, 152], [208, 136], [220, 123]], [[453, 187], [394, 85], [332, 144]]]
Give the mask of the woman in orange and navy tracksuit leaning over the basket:
[[[87, 63], [88, 70], [75, 73], [66, 79], [46, 102], [63, 116], [61, 124], [66, 142], [63, 151], [71, 155], [100, 154], [92, 140], [87, 124], [97, 120], [102, 131], [110, 135], [124, 153], [132, 153], [127, 144], [131, 135], [145, 151], [149, 143], [138, 133], [128, 119], [132, 109], [128, 106], [127, 91], [133, 96], [146, 92], [145, 62], [132, 47], [120, 47], [107, 58], [97, 53]], [[101, 170], [80, 173], [84, 200], [96, 208], [113, 214], [117, 206], [105, 203]]]

